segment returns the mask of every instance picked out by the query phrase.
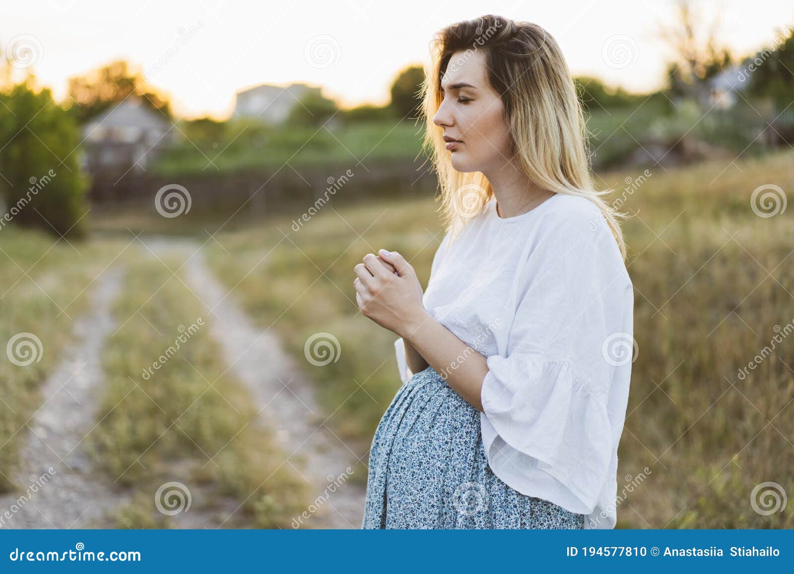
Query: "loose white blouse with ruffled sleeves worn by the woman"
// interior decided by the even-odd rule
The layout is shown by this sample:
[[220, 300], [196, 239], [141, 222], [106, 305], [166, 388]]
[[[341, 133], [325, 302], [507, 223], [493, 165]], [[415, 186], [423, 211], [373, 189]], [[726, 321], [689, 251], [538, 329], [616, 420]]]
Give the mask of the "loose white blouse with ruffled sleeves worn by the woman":
[[[495, 198], [434, 256], [425, 309], [486, 357], [488, 464], [525, 495], [614, 528], [618, 442], [634, 355], [634, 289], [587, 198], [500, 218]], [[407, 368], [395, 341], [400, 378]]]

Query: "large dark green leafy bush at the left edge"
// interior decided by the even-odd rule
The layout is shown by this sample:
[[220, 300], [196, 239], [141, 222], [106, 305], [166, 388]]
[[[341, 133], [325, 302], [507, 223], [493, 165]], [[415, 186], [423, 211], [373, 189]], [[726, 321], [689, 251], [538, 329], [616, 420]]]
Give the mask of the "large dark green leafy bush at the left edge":
[[[88, 211], [88, 182], [79, 165], [80, 131], [48, 89], [29, 77], [0, 93], [0, 191], [9, 222], [79, 237]], [[2, 229], [2, 227], [0, 227]]]

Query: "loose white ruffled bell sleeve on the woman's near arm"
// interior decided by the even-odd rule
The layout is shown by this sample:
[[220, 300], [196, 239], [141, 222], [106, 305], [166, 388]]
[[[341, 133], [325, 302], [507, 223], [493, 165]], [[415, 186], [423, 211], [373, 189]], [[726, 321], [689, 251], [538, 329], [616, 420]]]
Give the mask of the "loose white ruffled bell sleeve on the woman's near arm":
[[[593, 225], [566, 218], [530, 240], [506, 349], [487, 357], [480, 419], [496, 476], [572, 512], [602, 510], [606, 520], [589, 527], [604, 528], [614, 527], [604, 507], [616, 484], [634, 299], [611, 231]], [[628, 345], [629, 360], [614, 359], [615, 345], [623, 356]]]

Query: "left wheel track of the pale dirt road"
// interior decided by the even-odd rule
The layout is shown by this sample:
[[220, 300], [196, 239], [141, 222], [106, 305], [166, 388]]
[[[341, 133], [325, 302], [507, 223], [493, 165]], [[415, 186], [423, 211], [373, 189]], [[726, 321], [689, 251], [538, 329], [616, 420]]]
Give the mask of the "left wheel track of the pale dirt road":
[[98, 279], [91, 310], [75, 319], [64, 358], [41, 387], [44, 403], [20, 430], [29, 440], [13, 477], [19, 490], [0, 496], [0, 512], [12, 514], [3, 528], [108, 527], [103, 513], [123, 502], [92, 474], [83, 441], [96, 422], [102, 346], [113, 328], [110, 306], [120, 287], [119, 269]]

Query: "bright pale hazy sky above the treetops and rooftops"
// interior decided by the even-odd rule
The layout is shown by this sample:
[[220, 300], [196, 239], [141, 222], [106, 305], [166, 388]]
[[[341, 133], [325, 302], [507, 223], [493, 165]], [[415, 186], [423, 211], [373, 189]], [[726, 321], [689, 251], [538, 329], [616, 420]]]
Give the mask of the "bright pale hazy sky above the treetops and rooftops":
[[[794, 24], [791, 0], [697, 6], [704, 22], [721, 14], [719, 39], [737, 55], [769, 44], [775, 27]], [[658, 30], [673, 17], [669, 0], [26, 0], [2, 7], [0, 47], [6, 52], [20, 37], [31, 45], [33, 70], [56, 98], [66, 93], [70, 76], [125, 58], [148, 71], [177, 114], [225, 117], [234, 92], [258, 83], [319, 85], [345, 106], [385, 103], [396, 73], [427, 59], [437, 29], [484, 13], [542, 25], [561, 44], [574, 75], [632, 91], [651, 90], [664, 79], [668, 50]]]

